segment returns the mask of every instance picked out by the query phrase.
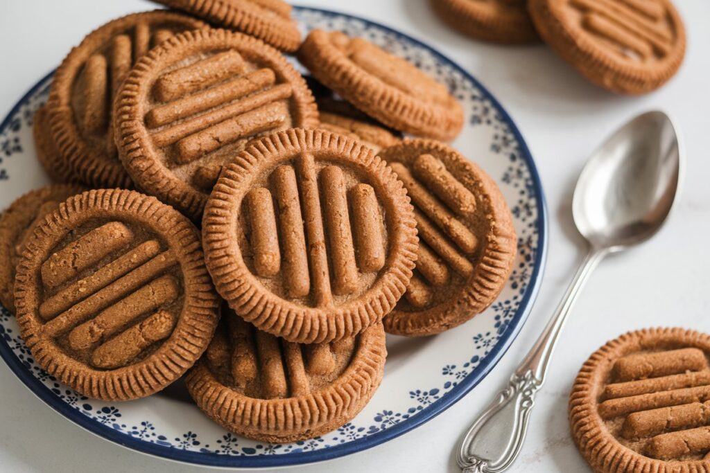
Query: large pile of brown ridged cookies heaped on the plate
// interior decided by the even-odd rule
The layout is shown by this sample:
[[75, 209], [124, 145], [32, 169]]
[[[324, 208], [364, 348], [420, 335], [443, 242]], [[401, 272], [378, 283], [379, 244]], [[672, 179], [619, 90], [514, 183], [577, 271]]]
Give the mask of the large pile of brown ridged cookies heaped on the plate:
[[420, 69], [337, 31], [301, 43], [280, 0], [164, 3], [58, 68], [35, 119], [57, 184], [2, 216], [0, 301], [82, 394], [187, 374], [234, 433], [322, 435], [373, 396], [386, 332], [439, 333], [496, 299], [510, 211], [442, 142], [464, 114]]

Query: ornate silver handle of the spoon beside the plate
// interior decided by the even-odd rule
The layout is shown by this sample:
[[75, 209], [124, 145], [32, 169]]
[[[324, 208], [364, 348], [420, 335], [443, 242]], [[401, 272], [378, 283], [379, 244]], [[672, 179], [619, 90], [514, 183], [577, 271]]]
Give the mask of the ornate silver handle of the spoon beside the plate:
[[503, 472], [515, 461], [528, 429], [535, 393], [545, 382], [552, 351], [564, 322], [592, 270], [606, 255], [605, 250], [590, 250], [557, 306], [555, 315], [537, 339], [528, 356], [515, 370], [506, 389], [481, 413], [469, 428], [459, 448], [458, 462], [464, 473]]

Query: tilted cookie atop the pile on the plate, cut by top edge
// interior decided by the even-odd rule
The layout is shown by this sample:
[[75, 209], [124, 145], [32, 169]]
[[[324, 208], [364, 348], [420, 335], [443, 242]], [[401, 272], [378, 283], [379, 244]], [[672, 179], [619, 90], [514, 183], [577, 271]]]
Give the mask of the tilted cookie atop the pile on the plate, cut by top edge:
[[215, 26], [254, 36], [276, 49], [293, 52], [301, 43], [291, 6], [281, 0], [155, 0], [198, 16]]

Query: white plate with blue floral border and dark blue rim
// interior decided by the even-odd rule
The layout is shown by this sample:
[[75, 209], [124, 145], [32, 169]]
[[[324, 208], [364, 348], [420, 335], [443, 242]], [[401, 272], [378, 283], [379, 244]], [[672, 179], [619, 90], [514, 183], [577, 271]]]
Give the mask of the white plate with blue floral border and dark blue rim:
[[[327, 435], [285, 445], [227, 433], [192, 404], [182, 382], [147, 399], [106, 403], [58, 383], [33, 360], [13, 316], [0, 311], [0, 355], [34, 394], [102, 438], [132, 450], [217, 467], [283, 467], [365, 450], [422, 425], [481, 382], [513, 342], [537, 294], [545, 262], [547, 218], [535, 162], [515, 123], [476, 79], [427, 45], [386, 26], [331, 11], [295, 7], [305, 33], [343, 30], [405, 57], [447, 84], [466, 112], [454, 143], [496, 179], [518, 232], [518, 257], [501, 296], [464, 325], [429, 338], [388, 336], [383, 382], [351, 422]], [[0, 125], [0, 208], [48, 183], [35, 156], [34, 112], [47, 100], [52, 74], [16, 104]]]

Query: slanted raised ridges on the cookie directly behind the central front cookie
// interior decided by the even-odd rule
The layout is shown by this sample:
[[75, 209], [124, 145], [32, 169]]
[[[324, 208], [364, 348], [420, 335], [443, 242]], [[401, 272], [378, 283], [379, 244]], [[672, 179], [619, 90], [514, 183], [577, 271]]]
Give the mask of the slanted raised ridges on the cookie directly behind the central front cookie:
[[[272, 69], [253, 69], [235, 50], [217, 52], [163, 73], [153, 86], [155, 104], [146, 126], [175, 169], [226, 145], [290, 124], [290, 84], [276, 84]], [[212, 189], [219, 165], [197, 167], [193, 184]]]

